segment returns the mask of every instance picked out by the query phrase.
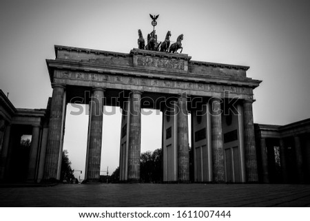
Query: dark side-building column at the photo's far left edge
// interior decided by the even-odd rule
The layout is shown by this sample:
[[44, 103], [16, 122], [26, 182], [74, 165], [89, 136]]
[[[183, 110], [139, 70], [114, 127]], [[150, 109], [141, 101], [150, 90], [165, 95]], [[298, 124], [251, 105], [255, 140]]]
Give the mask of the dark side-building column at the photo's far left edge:
[[11, 125], [6, 125], [6, 129], [4, 131], [3, 135], [3, 146], [1, 149], [1, 160], [0, 160], [0, 180], [4, 180], [6, 178], [6, 170], [8, 167], [7, 161], [8, 161], [8, 147], [10, 144], [10, 131], [11, 131]]

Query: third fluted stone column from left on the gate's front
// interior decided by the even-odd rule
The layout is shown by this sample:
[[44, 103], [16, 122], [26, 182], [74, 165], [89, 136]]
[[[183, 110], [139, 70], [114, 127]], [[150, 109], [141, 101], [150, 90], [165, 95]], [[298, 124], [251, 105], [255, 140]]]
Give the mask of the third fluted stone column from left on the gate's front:
[[128, 181], [140, 180], [140, 152], [141, 152], [141, 92], [130, 94], [130, 129], [128, 153]]

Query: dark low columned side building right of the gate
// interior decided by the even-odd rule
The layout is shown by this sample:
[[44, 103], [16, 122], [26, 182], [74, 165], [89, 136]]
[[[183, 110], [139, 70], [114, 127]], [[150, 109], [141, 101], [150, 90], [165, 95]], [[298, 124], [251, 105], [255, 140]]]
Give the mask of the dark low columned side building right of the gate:
[[261, 182], [310, 183], [310, 118], [254, 128]]

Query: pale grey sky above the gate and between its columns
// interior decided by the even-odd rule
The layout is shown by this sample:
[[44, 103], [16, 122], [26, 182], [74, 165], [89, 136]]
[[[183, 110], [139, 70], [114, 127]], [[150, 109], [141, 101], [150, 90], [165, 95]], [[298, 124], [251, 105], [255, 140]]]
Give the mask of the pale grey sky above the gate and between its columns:
[[[285, 125], [310, 117], [310, 1], [1, 1], [0, 88], [17, 108], [46, 108], [52, 87], [45, 59], [54, 45], [129, 53], [138, 29], [184, 34], [192, 60], [247, 65], [262, 80], [254, 123]], [[87, 116], [67, 109], [65, 144], [72, 167], [85, 169]], [[87, 109], [87, 107], [85, 107]], [[142, 116], [142, 151], [161, 147], [161, 115]], [[101, 170], [118, 166], [121, 115], [103, 119]], [[104, 172], [103, 172], [104, 173]], [[83, 175], [83, 174], [82, 174]], [[77, 174], [79, 176], [79, 174]]]

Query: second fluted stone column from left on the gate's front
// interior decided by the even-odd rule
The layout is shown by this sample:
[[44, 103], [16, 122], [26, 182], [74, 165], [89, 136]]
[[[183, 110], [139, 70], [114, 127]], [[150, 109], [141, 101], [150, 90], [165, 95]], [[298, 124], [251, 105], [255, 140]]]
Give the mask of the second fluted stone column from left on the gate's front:
[[96, 87], [92, 90], [90, 101], [90, 124], [87, 149], [87, 182], [99, 182], [101, 165], [102, 124], [103, 124], [103, 96], [105, 90]]

